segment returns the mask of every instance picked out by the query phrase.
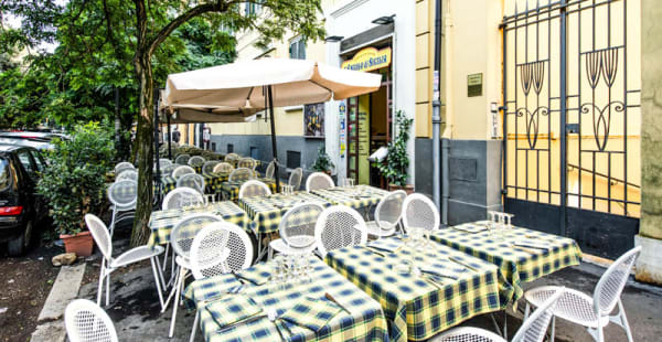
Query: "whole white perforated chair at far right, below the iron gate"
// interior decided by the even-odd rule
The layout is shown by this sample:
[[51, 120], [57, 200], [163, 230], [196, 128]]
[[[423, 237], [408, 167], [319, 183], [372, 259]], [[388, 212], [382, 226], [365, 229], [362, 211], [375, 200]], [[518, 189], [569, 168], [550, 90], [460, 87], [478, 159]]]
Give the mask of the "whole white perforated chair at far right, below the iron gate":
[[[626, 330], [628, 341], [632, 342], [632, 332], [620, 296], [640, 253], [641, 246], [638, 246], [613, 261], [600, 277], [592, 298], [584, 292], [567, 289], [554, 310], [555, 318], [558, 317], [586, 327], [589, 334], [598, 342], [605, 341], [602, 330], [609, 322], [613, 322]], [[524, 293], [526, 299], [525, 317], [528, 316], [530, 306], [540, 307], [557, 290], [558, 287], [555, 286], [543, 286], [526, 291]], [[618, 314], [610, 316], [617, 306]], [[554, 323], [553, 321], [552, 341], [554, 340]]]

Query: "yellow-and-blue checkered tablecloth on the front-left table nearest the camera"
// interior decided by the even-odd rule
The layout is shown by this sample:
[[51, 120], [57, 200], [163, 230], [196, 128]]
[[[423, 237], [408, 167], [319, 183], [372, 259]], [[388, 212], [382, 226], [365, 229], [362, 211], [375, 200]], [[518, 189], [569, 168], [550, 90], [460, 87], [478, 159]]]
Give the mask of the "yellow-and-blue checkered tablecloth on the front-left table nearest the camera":
[[[246, 282], [246, 287], [241, 293], [253, 299], [264, 309], [276, 310], [279, 317], [297, 304], [299, 307], [305, 306], [307, 302], [305, 297], [325, 300], [325, 292], [331, 293], [341, 302], [342, 307], [351, 311], [338, 311], [317, 332], [277, 320], [276, 322], [286, 327], [281, 329], [285, 341], [388, 341], [387, 323], [380, 303], [318, 258], [311, 257], [310, 263], [314, 268], [311, 274], [313, 281], [293, 282], [291, 286], [286, 286], [285, 288], [269, 282], [261, 286], [254, 286], [250, 282]], [[260, 271], [263, 270], [259, 267], [254, 267], [243, 272]], [[195, 280], [184, 291], [184, 303], [189, 308], [199, 307], [200, 328], [205, 341], [280, 341], [281, 339], [275, 322], [270, 322], [267, 318], [260, 318], [249, 323], [218, 331], [218, 324], [204, 306], [216, 298], [233, 296], [224, 293], [239, 285], [241, 282], [235, 276], [223, 275]], [[297, 311], [305, 314], [303, 312], [307, 310]]]

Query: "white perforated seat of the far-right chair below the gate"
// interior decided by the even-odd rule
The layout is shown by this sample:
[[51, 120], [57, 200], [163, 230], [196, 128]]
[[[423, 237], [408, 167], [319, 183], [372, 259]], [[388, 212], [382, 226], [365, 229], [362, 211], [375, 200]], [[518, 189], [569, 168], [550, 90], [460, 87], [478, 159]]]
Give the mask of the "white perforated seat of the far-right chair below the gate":
[[[526, 291], [524, 298], [537, 308], [559, 289], [560, 287], [557, 286], [537, 287]], [[592, 298], [574, 289], [565, 289], [556, 303], [554, 316], [584, 327], [598, 328], [598, 318], [594, 309]], [[609, 317], [602, 317], [600, 323], [602, 327], [607, 325]]]

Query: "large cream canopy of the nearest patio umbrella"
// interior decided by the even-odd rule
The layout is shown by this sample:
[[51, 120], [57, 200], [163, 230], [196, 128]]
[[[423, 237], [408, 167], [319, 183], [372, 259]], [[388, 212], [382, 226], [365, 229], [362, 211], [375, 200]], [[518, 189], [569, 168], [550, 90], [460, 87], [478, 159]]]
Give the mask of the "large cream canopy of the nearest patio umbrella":
[[261, 58], [171, 74], [163, 99], [167, 106], [260, 108], [266, 96], [263, 86], [271, 86], [274, 107], [297, 106], [372, 93], [381, 81], [378, 74], [314, 61]]

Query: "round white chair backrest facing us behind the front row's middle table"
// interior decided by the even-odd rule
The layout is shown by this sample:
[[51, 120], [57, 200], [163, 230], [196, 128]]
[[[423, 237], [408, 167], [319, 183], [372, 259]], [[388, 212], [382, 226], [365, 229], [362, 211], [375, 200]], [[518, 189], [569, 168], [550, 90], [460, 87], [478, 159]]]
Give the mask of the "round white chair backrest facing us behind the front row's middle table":
[[355, 210], [344, 205], [327, 207], [314, 226], [318, 250], [329, 250], [364, 244], [367, 241], [365, 221]]

